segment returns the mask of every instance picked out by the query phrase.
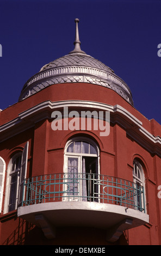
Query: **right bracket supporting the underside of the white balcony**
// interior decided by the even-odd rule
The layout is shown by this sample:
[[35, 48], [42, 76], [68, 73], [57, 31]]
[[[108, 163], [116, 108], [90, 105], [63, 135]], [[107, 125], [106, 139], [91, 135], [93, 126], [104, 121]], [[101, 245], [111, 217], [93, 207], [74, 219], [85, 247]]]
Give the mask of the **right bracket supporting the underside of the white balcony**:
[[132, 225], [132, 220], [126, 218], [125, 220], [121, 221], [120, 223], [116, 224], [114, 227], [109, 228], [107, 230], [106, 240], [108, 242], [115, 242], [119, 239], [122, 235], [123, 231], [129, 229], [129, 226]]

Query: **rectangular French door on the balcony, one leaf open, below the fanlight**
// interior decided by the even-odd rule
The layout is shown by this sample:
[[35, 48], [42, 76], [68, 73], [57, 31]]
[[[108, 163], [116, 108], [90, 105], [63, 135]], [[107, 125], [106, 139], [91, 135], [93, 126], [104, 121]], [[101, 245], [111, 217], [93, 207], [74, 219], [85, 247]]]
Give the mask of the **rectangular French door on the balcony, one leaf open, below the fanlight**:
[[65, 199], [98, 202], [97, 157], [67, 156], [66, 158]]

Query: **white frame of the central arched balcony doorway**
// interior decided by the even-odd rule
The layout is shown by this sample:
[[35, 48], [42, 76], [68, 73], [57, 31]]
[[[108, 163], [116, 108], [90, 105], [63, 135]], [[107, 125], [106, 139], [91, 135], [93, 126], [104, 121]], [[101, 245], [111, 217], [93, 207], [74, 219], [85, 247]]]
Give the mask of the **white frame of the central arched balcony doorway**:
[[[97, 154], [85, 154], [85, 153], [69, 153], [67, 152], [67, 148], [69, 147], [69, 145], [72, 142], [76, 142], [76, 141], [82, 141], [82, 142], [86, 142], [91, 144], [97, 151]], [[98, 177], [100, 177], [100, 150], [98, 149], [97, 144], [92, 140], [89, 139], [87, 137], [75, 137], [70, 139], [66, 145], [65, 145], [65, 149], [64, 149], [64, 173], [67, 173], [67, 168], [68, 168], [68, 157], [78, 157], [78, 172], [81, 173], [82, 172], [82, 157], [83, 156], [90, 156], [90, 157], [96, 157], [97, 158], [97, 163], [98, 163]], [[66, 179], [65, 179], [66, 182]], [[64, 191], [67, 190], [67, 186], [65, 186]], [[82, 182], [80, 182], [79, 184], [79, 193], [82, 194]], [[98, 194], [100, 194], [100, 186], [98, 185]], [[80, 198], [75, 197], [75, 199], [73, 199], [73, 197], [67, 196], [67, 193], [65, 193], [65, 198], [63, 200], [81, 200]], [[100, 201], [100, 199], [98, 198], [98, 200]]]

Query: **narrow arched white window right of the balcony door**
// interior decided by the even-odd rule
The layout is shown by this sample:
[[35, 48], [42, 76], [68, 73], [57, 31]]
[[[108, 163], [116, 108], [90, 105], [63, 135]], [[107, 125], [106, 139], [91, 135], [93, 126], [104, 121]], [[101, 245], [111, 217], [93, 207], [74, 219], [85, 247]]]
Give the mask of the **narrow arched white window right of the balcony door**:
[[133, 162], [133, 181], [134, 181], [134, 200], [135, 200], [135, 208], [139, 211], [145, 210], [145, 187], [144, 187], [144, 172], [143, 167], [141, 166], [138, 160], [134, 160]]

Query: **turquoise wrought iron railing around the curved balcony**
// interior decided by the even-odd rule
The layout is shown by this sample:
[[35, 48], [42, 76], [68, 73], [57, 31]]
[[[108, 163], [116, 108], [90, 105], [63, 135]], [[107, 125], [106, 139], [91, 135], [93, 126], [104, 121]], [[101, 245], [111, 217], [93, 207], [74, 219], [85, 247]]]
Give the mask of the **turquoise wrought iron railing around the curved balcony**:
[[94, 173], [57, 173], [24, 180], [22, 206], [86, 201], [109, 203], [145, 212], [144, 187], [132, 181]]

